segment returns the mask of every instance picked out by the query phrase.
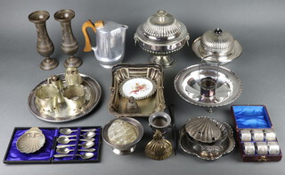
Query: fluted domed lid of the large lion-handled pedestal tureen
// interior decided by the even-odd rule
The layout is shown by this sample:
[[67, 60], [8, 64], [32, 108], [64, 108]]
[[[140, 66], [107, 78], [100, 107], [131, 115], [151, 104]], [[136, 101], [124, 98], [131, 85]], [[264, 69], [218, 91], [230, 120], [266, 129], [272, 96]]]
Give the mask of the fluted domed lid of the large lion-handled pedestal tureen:
[[181, 33], [181, 22], [177, 21], [172, 14], [160, 10], [142, 25], [145, 37], [177, 37]]

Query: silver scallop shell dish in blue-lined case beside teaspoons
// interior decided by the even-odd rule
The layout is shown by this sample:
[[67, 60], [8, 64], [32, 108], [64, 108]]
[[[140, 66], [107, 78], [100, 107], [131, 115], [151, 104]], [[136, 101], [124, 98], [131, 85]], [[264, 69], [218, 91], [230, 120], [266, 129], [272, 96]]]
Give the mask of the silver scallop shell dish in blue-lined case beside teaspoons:
[[35, 153], [44, 145], [45, 135], [36, 127], [28, 129], [16, 143], [17, 149], [25, 154]]

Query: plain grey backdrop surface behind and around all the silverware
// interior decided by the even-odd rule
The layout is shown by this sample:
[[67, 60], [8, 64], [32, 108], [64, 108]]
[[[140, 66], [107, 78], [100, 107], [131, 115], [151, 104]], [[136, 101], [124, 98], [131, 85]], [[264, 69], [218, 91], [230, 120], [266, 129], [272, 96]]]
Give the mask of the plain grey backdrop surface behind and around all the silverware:
[[[167, 10], [182, 21], [192, 41], [208, 29], [219, 27], [232, 33], [243, 48], [240, 58], [225, 65], [240, 76], [243, 91], [233, 104], [265, 104], [279, 138], [281, 149], [284, 141], [284, 75], [285, 75], [285, 2], [281, 0], [26, 0], [0, 1], [0, 156], [4, 157], [14, 127], [71, 127], [104, 125], [114, 118], [107, 109], [110, 97], [111, 71], [102, 68], [94, 59], [94, 53], [83, 53], [84, 37], [81, 25], [92, 21], [117, 21], [126, 24], [126, 55], [124, 63], [148, 63], [148, 54], [134, 46], [134, 32], [159, 9]], [[61, 26], [53, 19], [53, 13], [72, 9], [76, 17], [72, 29], [79, 43], [77, 56], [83, 60], [79, 72], [96, 79], [102, 86], [100, 104], [90, 115], [77, 121], [50, 123], [38, 120], [28, 111], [28, 94], [39, 82], [52, 74], [64, 72], [66, 55], [61, 51]], [[28, 21], [28, 14], [37, 10], [50, 12], [47, 30], [53, 40], [53, 57], [60, 65], [53, 71], [42, 71], [43, 60], [37, 54], [37, 32]], [[91, 31], [91, 30], [90, 30]], [[95, 41], [94, 34], [90, 35]], [[175, 54], [175, 64], [165, 70], [165, 98], [175, 103], [176, 125], [179, 128], [189, 118], [207, 115], [232, 125], [230, 106], [218, 108], [213, 113], [183, 101], [175, 92], [175, 75], [183, 68], [199, 63], [191, 47]], [[6, 165], [0, 163], [0, 174], [283, 174], [281, 162], [241, 162], [237, 147], [212, 162], [200, 160], [194, 155], [171, 155], [164, 161], [153, 161], [144, 153], [144, 146], [151, 140], [147, 118], [139, 119], [145, 130], [142, 141], [134, 154], [119, 156], [110, 146], [102, 143], [101, 162], [85, 164]], [[170, 137], [171, 138], [171, 137]]]

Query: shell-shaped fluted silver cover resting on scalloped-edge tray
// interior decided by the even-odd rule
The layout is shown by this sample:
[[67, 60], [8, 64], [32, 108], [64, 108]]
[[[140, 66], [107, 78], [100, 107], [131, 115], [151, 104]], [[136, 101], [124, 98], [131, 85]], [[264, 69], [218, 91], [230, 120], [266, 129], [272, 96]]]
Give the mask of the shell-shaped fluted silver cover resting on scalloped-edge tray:
[[215, 143], [222, 137], [219, 123], [208, 117], [190, 119], [185, 124], [185, 130], [193, 139], [203, 143]]

